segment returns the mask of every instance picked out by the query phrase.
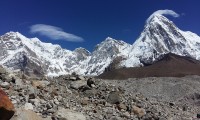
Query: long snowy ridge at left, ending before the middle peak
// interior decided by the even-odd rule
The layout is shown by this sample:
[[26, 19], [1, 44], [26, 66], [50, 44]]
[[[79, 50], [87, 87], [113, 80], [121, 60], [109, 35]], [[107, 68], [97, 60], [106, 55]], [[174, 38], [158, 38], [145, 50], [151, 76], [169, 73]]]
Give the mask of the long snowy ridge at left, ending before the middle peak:
[[90, 54], [85, 49], [62, 49], [59, 45], [43, 43], [37, 38], [26, 38], [18, 32], [0, 37], [0, 64], [14, 70], [45, 73], [48, 76], [71, 73]]

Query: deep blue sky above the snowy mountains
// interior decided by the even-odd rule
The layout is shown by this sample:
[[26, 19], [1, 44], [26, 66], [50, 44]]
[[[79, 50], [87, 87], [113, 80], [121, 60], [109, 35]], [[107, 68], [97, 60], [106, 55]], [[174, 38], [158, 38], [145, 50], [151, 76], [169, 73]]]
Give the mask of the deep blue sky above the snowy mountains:
[[69, 50], [92, 51], [108, 36], [133, 44], [160, 9], [175, 11], [180, 17], [170, 20], [200, 35], [199, 5], [199, 0], [1, 0], [0, 34], [18, 31]]

